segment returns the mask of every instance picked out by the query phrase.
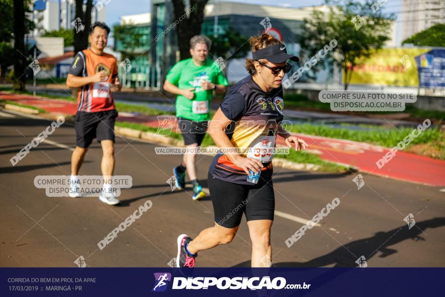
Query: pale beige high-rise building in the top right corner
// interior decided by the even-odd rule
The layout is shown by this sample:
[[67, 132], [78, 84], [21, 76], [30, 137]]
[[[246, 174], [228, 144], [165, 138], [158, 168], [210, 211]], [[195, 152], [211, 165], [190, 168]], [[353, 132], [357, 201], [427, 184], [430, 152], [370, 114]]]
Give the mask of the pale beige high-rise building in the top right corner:
[[404, 0], [402, 40], [436, 24], [445, 23], [445, 1]]

